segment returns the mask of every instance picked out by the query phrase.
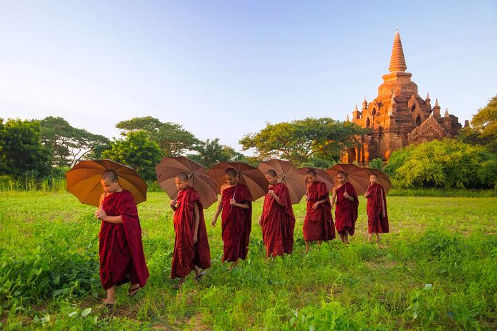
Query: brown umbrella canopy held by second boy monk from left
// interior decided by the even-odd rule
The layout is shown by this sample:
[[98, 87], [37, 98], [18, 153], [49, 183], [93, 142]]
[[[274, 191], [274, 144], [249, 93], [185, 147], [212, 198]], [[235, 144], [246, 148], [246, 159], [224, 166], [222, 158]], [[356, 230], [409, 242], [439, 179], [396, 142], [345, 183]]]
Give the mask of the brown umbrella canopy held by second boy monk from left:
[[217, 201], [217, 187], [214, 179], [209, 177], [204, 166], [186, 157], [164, 157], [155, 167], [157, 183], [166, 191], [170, 199], [176, 199], [179, 190], [176, 187], [176, 176], [185, 172], [188, 175], [188, 186], [195, 188], [202, 200], [202, 207], [209, 208]]

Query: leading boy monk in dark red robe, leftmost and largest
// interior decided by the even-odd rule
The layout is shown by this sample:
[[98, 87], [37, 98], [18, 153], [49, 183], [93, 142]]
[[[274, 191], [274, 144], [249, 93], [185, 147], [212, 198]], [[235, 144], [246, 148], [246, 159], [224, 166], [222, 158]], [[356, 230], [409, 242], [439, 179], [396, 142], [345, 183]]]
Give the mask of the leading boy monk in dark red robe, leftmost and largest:
[[101, 194], [95, 217], [101, 219], [100, 280], [107, 299], [102, 303], [112, 307], [116, 285], [131, 282], [126, 295], [133, 297], [143, 288], [149, 276], [142, 245], [142, 228], [135, 199], [123, 190], [113, 170], [106, 170], [100, 179], [105, 192]]

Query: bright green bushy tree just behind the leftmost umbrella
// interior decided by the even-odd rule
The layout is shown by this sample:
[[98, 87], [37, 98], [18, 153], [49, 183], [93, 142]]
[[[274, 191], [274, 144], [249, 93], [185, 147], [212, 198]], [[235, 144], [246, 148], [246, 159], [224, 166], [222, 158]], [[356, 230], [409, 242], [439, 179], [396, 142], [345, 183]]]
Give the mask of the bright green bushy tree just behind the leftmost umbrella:
[[155, 141], [148, 140], [146, 132], [129, 132], [126, 139], [111, 141], [112, 149], [102, 152], [102, 157], [129, 165], [144, 181], [157, 180], [155, 165], [162, 160], [162, 150]]

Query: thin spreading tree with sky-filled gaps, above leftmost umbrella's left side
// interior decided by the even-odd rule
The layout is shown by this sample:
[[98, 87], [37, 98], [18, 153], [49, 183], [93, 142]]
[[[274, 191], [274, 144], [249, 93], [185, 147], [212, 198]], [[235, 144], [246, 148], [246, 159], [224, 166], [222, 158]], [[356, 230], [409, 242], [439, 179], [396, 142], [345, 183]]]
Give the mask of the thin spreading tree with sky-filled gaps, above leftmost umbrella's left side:
[[84, 157], [99, 159], [110, 141], [99, 134], [73, 128], [62, 117], [45, 117], [40, 122], [41, 143], [51, 152], [52, 164], [58, 167], [75, 165]]

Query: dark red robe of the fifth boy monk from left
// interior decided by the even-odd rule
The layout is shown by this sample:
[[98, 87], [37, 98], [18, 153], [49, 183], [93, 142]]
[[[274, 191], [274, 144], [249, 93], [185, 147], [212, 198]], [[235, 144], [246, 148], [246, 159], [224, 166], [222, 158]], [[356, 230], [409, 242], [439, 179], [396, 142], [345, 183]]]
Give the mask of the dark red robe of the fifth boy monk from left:
[[[307, 210], [304, 219], [305, 241], [324, 240], [328, 241], [335, 238], [335, 225], [331, 217], [331, 203], [329, 192], [325, 183], [315, 181], [309, 184], [309, 200], [307, 200]], [[312, 209], [314, 203], [320, 200], [326, 200], [318, 205], [318, 208]]]

